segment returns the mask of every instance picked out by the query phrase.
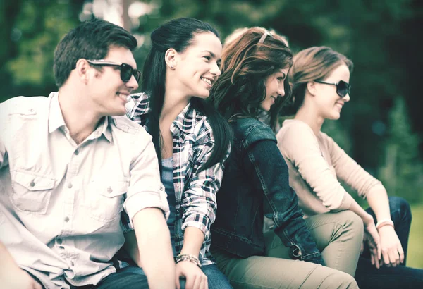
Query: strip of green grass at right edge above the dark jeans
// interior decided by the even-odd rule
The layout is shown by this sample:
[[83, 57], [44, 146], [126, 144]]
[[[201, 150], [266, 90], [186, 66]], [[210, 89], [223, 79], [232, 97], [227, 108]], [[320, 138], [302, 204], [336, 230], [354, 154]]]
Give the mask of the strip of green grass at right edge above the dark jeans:
[[411, 207], [412, 222], [408, 240], [407, 266], [423, 269], [423, 204]]

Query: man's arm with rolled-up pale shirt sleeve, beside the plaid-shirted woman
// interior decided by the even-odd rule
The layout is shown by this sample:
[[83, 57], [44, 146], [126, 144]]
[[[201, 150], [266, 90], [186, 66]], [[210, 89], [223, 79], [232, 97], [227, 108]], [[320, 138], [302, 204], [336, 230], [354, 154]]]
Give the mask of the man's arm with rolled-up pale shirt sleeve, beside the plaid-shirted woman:
[[175, 263], [165, 219], [168, 203], [160, 183], [154, 145], [151, 137], [147, 140], [131, 146], [136, 152], [130, 166], [130, 186], [124, 207], [130, 220], [129, 227], [133, 224], [136, 240], [135, 236], [127, 234], [125, 238], [130, 244], [126, 244], [125, 249], [138, 265], [142, 264], [149, 288], [174, 288]]

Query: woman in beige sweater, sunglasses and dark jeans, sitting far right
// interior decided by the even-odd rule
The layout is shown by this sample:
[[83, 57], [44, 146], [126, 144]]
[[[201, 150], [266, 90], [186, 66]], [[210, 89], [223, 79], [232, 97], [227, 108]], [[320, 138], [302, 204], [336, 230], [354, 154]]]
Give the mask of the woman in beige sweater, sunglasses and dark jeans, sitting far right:
[[[404, 199], [388, 198], [379, 180], [320, 131], [324, 120], [338, 119], [350, 101], [352, 69], [349, 59], [329, 47], [311, 47], [294, 57], [288, 80], [293, 85], [295, 118], [284, 121], [276, 136], [288, 164], [290, 186], [305, 216], [349, 209], [361, 217], [364, 249], [355, 275], [360, 288], [421, 285], [423, 270], [404, 266], [410, 206]], [[362, 209], [338, 180], [367, 199], [370, 208]]]

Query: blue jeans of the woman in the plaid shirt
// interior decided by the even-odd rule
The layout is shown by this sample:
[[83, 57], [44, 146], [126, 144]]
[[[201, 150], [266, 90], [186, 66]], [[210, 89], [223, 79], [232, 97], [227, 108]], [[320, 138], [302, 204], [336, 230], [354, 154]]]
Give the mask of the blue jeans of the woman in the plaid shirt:
[[[229, 284], [228, 278], [223, 275], [223, 273], [217, 268], [216, 264], [205, 265], [202, 266], [201, 269], [204, 275], [207, 276], [207, 281], [209, 281], [209, 289], [233, 289], [231, 284]], [[124, 270], [130, 273], [145, 276], [144, 271], [138, 266], [130, 265]], [[183, 278], [180, 278], [180, 289], [185, 289], [185, 279]]]

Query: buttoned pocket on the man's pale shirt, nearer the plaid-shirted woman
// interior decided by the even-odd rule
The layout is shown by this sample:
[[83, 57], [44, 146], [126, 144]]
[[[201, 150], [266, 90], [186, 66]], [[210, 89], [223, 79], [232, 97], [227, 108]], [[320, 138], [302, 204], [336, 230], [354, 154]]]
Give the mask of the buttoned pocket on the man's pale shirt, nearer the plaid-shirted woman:
[[120, 218], [124, 195], [128, 192], [129, 180], [93, 180], [88, 186], [90, 216], [102, 222]]

